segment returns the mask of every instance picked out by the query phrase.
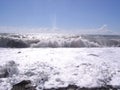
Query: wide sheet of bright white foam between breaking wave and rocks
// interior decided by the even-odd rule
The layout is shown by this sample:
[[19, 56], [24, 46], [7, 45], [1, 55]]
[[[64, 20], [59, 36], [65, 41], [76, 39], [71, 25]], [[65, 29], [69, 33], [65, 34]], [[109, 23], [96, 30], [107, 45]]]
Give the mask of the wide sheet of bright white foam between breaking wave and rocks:
[[0, 66], [13, 60], [19, 70], [0, 78], [0, 90], [22, 80], [31, 80], [37, 88], [119, 85], [119, 53], [120, 48], [0, 48]]

